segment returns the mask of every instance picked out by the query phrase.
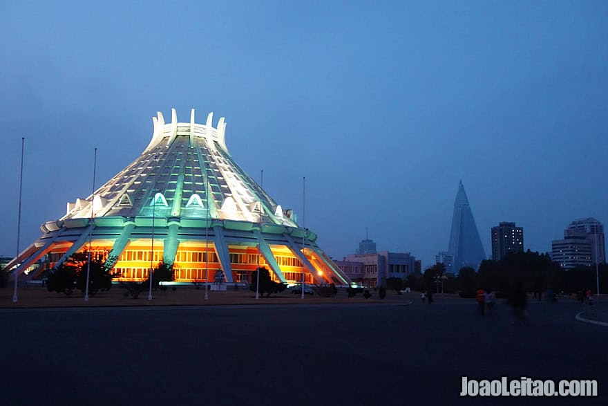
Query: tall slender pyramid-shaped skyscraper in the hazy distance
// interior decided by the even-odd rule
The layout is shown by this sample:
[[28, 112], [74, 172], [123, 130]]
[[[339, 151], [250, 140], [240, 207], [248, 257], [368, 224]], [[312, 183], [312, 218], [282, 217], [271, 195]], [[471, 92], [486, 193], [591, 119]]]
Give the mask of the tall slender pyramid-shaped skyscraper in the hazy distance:
[[450, 232], [449, 255], [452, 256], [453, 270], [458, 273], [460, 268], [471, 266], [479, 268], [479, 264], [486, 259], [486, 252], [479, 238], [479, 231], [473, 218], [471, 205], [468, 204], [464, 185], [460, 181], [458, 193], [454, 202], [452, 216], [452, 231]]

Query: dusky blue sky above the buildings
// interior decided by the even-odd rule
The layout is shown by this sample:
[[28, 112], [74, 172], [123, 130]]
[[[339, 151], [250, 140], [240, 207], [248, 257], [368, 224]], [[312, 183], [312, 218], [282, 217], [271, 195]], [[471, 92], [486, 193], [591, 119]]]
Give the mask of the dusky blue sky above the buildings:
[[214, 112], [245, 172], [334, 259], [369, 236], [423, 267], [462, 180], [490, 229], [551, 250], [608, 225], [606, 1], [2, 1], [0, 255], [129, 165], [152, 120]]

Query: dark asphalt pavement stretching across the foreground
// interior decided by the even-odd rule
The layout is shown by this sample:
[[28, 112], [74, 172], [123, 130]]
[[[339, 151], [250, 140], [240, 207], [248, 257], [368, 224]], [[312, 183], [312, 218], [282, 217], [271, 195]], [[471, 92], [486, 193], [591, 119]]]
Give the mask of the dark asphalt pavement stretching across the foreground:
[[[0, 310], [2, 405], [607, 404], [576, 302]], [[459, 398], [461, 377], [596, 379], [598, 398]], [[489, 403], [488, 403], [489, 402]]]

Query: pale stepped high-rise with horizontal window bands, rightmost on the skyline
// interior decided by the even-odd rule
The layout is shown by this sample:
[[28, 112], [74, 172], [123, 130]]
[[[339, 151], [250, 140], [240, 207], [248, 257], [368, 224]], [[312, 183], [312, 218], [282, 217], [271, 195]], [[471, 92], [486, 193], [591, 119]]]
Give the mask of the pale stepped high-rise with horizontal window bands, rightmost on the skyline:
[[604, 226], [592, 217], [573, 221], [564, 230], [564, 239], [551, 243], [551, 257], [567, 269], [605, 263]]

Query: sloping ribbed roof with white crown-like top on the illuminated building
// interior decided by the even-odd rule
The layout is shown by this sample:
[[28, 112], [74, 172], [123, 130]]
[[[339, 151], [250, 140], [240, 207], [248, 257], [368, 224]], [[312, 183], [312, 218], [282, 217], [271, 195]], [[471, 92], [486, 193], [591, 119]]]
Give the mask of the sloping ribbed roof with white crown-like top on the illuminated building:
[[[171, 123], [162, 113], [153, 118], [154, 133], [141, 156], [86, 199], [67, 205], [59, 219], [89, 219], [106, 216], [155, 216], [260, 221], [298, 227], [290, 210], [283, 210], [232, 159], [226, 147], [226, 123], [220, 118], [206, 124]], [[91, 203], [93, 206], [91, 207]]]

